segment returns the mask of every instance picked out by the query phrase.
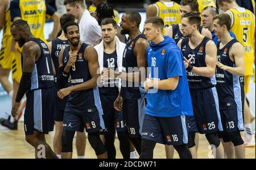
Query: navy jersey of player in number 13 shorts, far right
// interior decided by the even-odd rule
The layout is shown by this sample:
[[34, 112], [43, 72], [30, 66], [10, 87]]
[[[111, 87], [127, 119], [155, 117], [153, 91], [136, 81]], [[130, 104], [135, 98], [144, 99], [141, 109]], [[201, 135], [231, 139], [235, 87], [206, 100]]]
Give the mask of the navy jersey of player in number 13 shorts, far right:
[[[234, 43], [237, 43], [237, 39], [232, 39], [223, 48], [220, 49], [220, 42], [218, 43], [217, 59], [218, 62], [228, 66], [236, 67], [236, 63], [230, 60], [229, 51]], [[220, 109], [226, 109], [227, 106], [233, 105], [233, 101], [241, 101], [241, 86], [243, 87], [243, 77], [233, 75], [228, 71], [216, 68], [216, 89], [218, 92], [218, 100], [220, 103]], [[237, 104], [238, 104], [237, 103]]]

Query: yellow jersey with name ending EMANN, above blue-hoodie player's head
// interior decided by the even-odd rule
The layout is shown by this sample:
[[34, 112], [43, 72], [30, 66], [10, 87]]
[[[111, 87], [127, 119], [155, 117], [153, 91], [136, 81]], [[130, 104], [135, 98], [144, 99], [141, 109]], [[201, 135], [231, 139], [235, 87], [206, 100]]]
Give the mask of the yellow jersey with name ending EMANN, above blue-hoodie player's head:
[[[179, 24], [180, 20], [180, 6], [176, 2], [156, 2], [157, 14], [159, 18], [164, 21], [164, 28], [171, 26], [172, 24]], [[164, 31], [163, 31], [164, 34]]]

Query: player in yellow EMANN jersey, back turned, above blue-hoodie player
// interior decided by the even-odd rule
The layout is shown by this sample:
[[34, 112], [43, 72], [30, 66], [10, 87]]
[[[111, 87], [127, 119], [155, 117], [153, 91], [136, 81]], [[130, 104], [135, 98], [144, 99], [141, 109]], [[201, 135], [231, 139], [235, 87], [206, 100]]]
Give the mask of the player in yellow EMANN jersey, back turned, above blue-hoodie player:
[[167, 28], [172, 24], [180, 23], [179, 4], [171, 0], [160, 0], [148, 6], [146, 15], [147, 18], [152, 16], [158, 16], [159, 18], [162, 18], [164, 21], [164, 28]]

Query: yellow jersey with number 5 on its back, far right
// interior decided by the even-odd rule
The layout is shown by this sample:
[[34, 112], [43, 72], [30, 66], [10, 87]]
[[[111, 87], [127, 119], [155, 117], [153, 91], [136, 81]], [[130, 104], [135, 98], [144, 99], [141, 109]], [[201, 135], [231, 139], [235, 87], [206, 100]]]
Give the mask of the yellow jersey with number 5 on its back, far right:
[[245, 47], [245, 76], [253, 75], [255, 16], [242, 7], [229, 9], [228, 13], [232, 16], [231, 31]]

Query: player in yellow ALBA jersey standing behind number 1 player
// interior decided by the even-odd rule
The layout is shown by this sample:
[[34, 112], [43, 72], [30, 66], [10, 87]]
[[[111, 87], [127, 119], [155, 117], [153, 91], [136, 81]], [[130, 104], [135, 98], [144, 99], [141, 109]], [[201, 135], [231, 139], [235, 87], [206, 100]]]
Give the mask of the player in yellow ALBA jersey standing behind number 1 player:
[[[57, 33], [60, 28], [60, 16], [54, 9], [52, 9], [51, 6], [47, 5], [44, 1], [38, 1], [37, 3], [34, 3], [35, 1], [32, 0], [14, 0], [11, 1], [10, 4], [10, 14], [11, 14], [11, 20], [15, 21], [17, 19], [24, 19], [27, 20], [28, 25], [31, 28], [32, 35], [36, 36], [37, 38], [42, 39], [45, 43], [46, 40], [44, 39], [43, 35], [43, 28], [44, 23], [46, 20], [46, 15], [51, 16], [54, 22], [53, 31], [52, 31], [52, 38], [56, 38]], [[22, 66], [20, 61], [20, 52], [22, 51], [21, 48], [16, 46], [16, 43], [13, 42], [10, 45], [11, 47], [11, 55], [13, 56], [12, 59], [12, 78], [13, 78], [13, 105], [15, 103], [15, 96], [19, 87], [19, 81], [22, 76]], [[19, 108], [19, 117], [22, 114], [23, 107], [26, 106], [24, 102], [26, 99], [22, 99], [20, 102], [20, 108]], [[18, 117], [18, 118], [19, 118]], [[17, 128], [18, 118], [10, 118], [5, 120], [5, 125], [10, 128]]]

